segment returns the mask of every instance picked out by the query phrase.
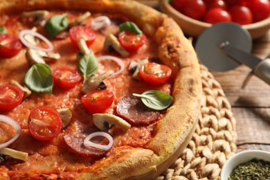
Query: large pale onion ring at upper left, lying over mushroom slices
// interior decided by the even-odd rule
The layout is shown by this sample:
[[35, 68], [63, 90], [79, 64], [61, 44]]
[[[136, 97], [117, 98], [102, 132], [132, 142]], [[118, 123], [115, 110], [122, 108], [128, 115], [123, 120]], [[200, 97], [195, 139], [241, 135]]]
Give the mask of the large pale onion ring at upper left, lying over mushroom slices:
[[[44, 41], [48, 45], [48, 48], [41, 48], [38, 46], [34, 46], [33, 44], [30, 44], [29, 42], [26, 41], [26, 39], [24, 39], [24, 35], [27, 35], [27, 34], [30, 34], [30, 35], [33, 35], [34, 37], [38, 37], [39, 39], [42, 39], [42, 41]], [[24, 44], [24, 46], [28, 48], [32, 48], [32, 49], [44, 51], [44, 52], [53, 51], [53, 44], [46, 37], [44, 37], [43, 35], [33, 30], [21, 30], [21, 32], [19, 32], [19, 39]]]

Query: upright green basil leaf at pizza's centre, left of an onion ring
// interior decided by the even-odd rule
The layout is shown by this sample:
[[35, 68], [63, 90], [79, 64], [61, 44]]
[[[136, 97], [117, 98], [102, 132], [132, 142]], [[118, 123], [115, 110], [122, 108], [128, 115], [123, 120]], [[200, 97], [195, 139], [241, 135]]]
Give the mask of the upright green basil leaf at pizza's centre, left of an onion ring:
[[91, 75], [98, 72], [98, 60], [93, 53], [83, 55], [79, 60], [78, 68], [80, 73], [84, 76], [84, 80], [87, 80]]

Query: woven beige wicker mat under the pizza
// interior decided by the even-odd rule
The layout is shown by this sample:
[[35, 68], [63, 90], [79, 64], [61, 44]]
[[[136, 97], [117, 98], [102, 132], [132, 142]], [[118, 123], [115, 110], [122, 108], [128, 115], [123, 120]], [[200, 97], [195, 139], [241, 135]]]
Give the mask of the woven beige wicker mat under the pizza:
[[160, 179], [220, 179], [221, 168], [237, 151], [235, 118], [219, 82], [201, 65], [204, 96], [195, 134]]

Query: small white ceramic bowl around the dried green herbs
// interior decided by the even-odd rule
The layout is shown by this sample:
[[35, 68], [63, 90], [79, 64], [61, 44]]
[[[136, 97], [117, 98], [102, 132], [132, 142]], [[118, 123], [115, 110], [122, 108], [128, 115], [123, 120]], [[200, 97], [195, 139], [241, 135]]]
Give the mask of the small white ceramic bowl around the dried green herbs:
[[229, 158], [228, 161], [226, 161], [226, 163], [223, 165], [220, 179], [228, 180], [228, 177], [237, 165], [240, 163], [246, 163], [254, 158], [270, 161], [270, 152], [261, 150], [244, 150], [242, 152], [238, 152], [237, 154], [231, 156], [231, 158]]

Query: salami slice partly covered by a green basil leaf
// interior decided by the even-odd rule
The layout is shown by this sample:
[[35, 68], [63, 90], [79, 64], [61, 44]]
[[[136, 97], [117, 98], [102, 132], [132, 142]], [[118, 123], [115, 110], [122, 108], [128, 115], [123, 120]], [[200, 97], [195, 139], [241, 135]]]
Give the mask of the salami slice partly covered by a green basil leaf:
[[132, 125], [149, 125], [159, 118], [159, 111], [146, 107], [141, 98], [125, 96], [116, 107], [118, 116], [125, 118]]

